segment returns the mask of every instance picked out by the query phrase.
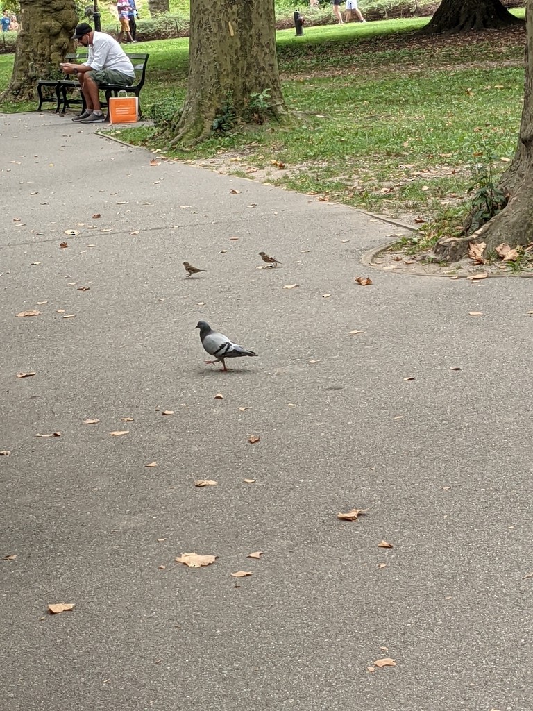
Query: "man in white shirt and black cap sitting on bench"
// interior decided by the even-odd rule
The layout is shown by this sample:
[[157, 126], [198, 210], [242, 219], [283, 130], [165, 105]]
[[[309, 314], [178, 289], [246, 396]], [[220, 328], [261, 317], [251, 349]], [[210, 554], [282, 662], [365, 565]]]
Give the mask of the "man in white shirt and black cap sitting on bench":
[[131, 86], [135, 80], [133, 65], [117, 40], [105, 32], [95, 32], [86, 22], [76, 27], [72, 39], [89, 50], [86, 64], [60, 64], [65, 74], [77, 74], [85, 98], [85, 111], [72, 121], [82, 124], [104, 121], [98, 87], [102, 84]]

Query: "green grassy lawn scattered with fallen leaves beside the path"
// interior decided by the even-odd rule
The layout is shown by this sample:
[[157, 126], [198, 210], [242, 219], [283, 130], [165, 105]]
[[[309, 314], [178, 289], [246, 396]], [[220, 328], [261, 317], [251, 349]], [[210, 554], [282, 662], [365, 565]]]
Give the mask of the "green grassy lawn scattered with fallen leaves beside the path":
[[[284, 124], [237, 129], [187, 153], [166, 151], [151, 127], [122, 129], [120, 137], [373, 212], [438, 218], [486, 179], [480, 167], [497, 176], [515, 151], [525, 31], [416, 37], [426, 22], [311, 27], [303, 38], [279, 31], [294, 112]], [[136, 49], [151, 55], [144, 107], [171, 114], [185, 95], [188, 40]], [[0, 90], [12, 63], [12, 55], [0, 57]]]

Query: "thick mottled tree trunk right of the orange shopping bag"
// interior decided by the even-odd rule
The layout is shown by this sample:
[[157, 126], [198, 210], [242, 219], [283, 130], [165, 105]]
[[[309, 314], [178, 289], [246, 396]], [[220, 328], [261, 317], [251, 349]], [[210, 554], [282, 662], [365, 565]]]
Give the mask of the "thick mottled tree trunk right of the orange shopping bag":
[[253, 120], [254, 94], [263, 95], [260, 120], [286, 112], [274, 0], [191, 0], [187, 95], [172, 144], [205, 139], [217, 117], [221, 124]]

